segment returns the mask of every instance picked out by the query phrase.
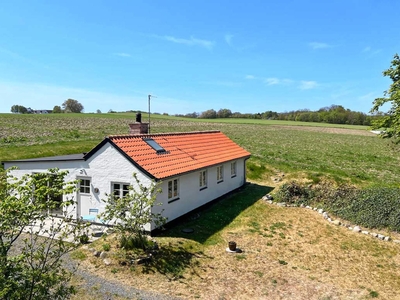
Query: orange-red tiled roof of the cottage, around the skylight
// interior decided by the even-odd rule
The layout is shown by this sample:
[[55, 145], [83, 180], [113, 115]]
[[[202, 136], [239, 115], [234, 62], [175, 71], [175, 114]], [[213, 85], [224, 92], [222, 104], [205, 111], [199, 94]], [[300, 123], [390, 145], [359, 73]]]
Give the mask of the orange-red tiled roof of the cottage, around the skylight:
[[[166, 152], [157, 153], [144, 141], [146, 138], [153, 139]], [[156, 179], [250, 156], [220, 131], [124, 135], [108, 139]]]

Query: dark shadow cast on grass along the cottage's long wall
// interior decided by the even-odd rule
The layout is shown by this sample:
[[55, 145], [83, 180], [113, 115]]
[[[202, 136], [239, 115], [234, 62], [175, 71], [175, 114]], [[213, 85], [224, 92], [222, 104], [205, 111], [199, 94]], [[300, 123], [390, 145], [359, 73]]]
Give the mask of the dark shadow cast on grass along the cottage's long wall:
[[[164, 237], [181, 237], [204, 244], [212, 235], [229, 225], [242, 211], [253, 205], [273, 188], [248, 183], [234, 193], [174, 220], [167, 230], [159, 233]], [[193, 229], [185, 233], [183, 229]]]

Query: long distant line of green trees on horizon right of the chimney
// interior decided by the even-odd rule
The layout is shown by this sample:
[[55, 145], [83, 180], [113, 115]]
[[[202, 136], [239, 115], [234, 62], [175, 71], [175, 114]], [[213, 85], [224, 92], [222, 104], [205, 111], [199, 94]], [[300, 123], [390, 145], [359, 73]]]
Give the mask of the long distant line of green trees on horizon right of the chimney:
[[316, 111], [311, 111], [309, 109], [300, 109], [282, 113], [271, 110], [262, 113], [240, 113], [232, 112], [230, 109], [227, 108], [221, 108], [218, 111], [214, 109], [209, 109], [203, 111], [202, 113], [193, 112], [185, 115], [176, 116], [199, 119], [242, 118], [349, 125], [371, 125], [371, 121], [376, 118], [375, 116], [367, 115], [363, 112], [345, 109], [341, 105], [322, 107]]

